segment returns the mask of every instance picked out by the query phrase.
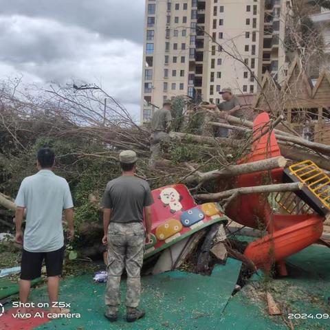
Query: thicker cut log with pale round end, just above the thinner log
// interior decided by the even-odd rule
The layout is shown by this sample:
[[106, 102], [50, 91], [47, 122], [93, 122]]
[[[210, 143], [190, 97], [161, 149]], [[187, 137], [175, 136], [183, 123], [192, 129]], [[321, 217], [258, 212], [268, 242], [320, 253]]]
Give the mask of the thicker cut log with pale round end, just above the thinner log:
[[272, 170], [273, 168], [283, 168], [286, 164], [287, 160], [284, 157], [273, 157], [259, 160], [257, 162], [230, 165], [227, 168], [222, 168], [221, 170], [211, 170], [210, 172], [206, 173], [196, 171], [194, 174], [186, 177], [184, 182], [186, 184], [192, 184], [193, 182], [206, 182], [217, 179], [219, 177], [232, 177], [234, 175], [260, 172], [262, 170]]

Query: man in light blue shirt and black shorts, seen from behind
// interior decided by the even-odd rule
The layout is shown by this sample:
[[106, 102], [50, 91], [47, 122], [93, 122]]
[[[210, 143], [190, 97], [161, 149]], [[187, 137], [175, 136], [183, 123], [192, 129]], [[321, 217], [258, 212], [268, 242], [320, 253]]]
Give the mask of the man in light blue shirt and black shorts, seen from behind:
[[[16, 242], [23, 244], [19, 300], [28, 303], [31, 281], [41, 276], [45, 260], [47, 271], [50, 312], [68, 314], [69, 309], [58, 307], [58, 287], [64, 259], [62, 212], [65, 210], [67, 237], [74, 238], [74, 204], [69, 184], [52, 172], [55, 154], [50, 148], [41, 148], [36, 156], [38, 173], [23, 179], [15, 203]], [[21, 230], [24, 210], [26, 222], [24, 235]], [[19, 309], [25, 318], [26, 307]]]

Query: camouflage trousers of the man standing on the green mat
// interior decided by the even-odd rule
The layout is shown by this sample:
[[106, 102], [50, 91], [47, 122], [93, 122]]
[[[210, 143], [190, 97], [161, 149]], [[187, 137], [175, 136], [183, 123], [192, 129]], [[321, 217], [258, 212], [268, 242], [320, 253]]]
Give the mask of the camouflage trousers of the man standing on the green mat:
[[120, 305], [120, 279], [126, 268], [126, 307], [140, 303], [140, 271], [143, 263], [145, 231], [143, 223], [110, 222], [108, 230], [108, 281], [105, 304], [110, 311]]

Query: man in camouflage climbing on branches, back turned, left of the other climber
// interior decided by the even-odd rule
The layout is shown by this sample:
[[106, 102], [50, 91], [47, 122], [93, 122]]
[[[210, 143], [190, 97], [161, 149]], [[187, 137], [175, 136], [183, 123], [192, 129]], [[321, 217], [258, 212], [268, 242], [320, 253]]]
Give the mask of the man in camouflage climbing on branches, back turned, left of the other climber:
[[151, 137], [150, 137], [150, 151], [151, 159], [150, 166], [153, 167], [155, 159], [160, 155], [160, 142], [169, 142], [170, 136], [170, 123], [172, 121], [172, 115], [170, 108], [172, 102], [170, 100], [164, 100], [162, 109], [157, 109], [151, 119]]

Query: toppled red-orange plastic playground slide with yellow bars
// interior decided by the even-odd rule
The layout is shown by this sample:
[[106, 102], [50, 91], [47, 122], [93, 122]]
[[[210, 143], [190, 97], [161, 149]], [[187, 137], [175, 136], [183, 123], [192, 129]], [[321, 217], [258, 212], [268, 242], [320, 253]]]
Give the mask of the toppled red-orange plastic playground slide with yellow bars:
[[[268, 129], [269, 122], [270, 117], [267, 113], [258, 115], [256, 120], [254, 120], [254, 137], [258, 137], [262, 131]], [[281, 151], [278, 147], [274, 131], [272, 131], [272, 133], [266, 133], [254, 142], [252, 152], [239, 163], [256, 162], [257, 160], [278, 157], [280, 155]], [[317, 168], [316, 165], [314, 167]], [[300, 166], [299, 168], [303, 169], [307, 168], [307, 166]], [[312, 170], [305, 173], [307, 174], [314, 170], [316, 169], [312, 168]], [[322, 172], [319, 168], [318, 170]], [[282, 183], [285, 178], [284, 172], [283, 168], [276, 168], [271, 171], [240, 175], [237, 177], [236, 187], [259, 186], [264, 184], [265, 179], [269, 177], [272, 177], [274, 184]], [[297, 175], [290, 173], [290, 179], [293, 177], [293, 181], [303, 181], [303, 176], [300, 178], [298, 170], [296, 172]], [[322, 173], [322, 177], [327, 177], [327, 175]], [[322, 186], [325, 185], [327, 185], [327, 181]], [[318, 202], [322, 204], [322, 201], [319, 201], [315, 193], [313, 195], [313, 190], [306, 189], [304, 191], [303, 199], [300, 199], [293, 193], [292, 195], [294, 197], [286, 197], [291, 203], [294, 203], [294, 199], [299, 199], [298, 202], [295, 201], [295, 205], [297, 206], [295, 212], [285, 207], [282, 196], [282, 199], [278, 198], [278, 204], [283, 206], [287, 212], [277, 211], [278, 213], [276, 214], [270, 206], [269, 197], [265, 194], [241, 195], [230, 205], [230, 210], [227, 212], [228, 217], [251, 228], [266, 228], [268, 232], [261, 239], [250, 243], [244, 253], [245, 256], [254, 262], [257, 268], [267, 271], [270, 270], [272, 264], [276, 263], [279, 273], [285, 276], [287, 275], [287, 270], [284, 259], [291, 254], [307, 248], [307, 246], [316, 243], [320, 239], [325, 217], [324, 214], [319, 215], [316, 213], [313, 206], [318, 204]], [[313, 199], [314, 203], [309, 203], [309, 199]], [[323, 209], [324, 206], [322, 206]]]

